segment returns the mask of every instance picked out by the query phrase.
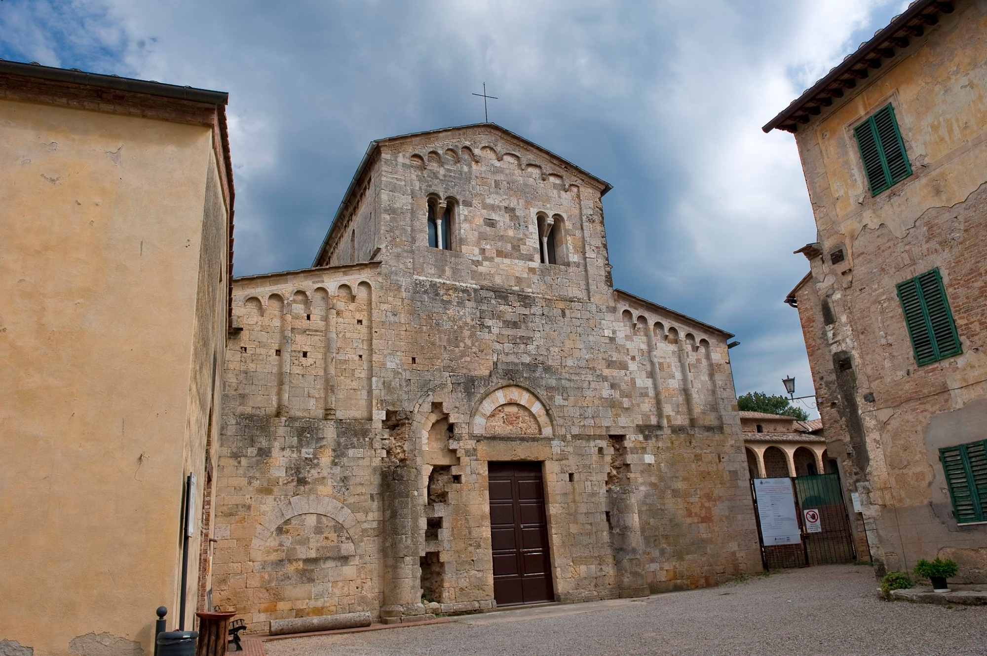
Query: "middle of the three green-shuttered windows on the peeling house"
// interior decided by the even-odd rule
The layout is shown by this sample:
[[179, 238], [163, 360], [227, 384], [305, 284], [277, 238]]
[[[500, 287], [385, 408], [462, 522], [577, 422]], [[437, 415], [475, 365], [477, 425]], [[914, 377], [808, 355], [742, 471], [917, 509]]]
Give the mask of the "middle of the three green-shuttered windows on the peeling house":
[[919, 366], [963, 352], [939, 269], [898, 283], [898, 299]]

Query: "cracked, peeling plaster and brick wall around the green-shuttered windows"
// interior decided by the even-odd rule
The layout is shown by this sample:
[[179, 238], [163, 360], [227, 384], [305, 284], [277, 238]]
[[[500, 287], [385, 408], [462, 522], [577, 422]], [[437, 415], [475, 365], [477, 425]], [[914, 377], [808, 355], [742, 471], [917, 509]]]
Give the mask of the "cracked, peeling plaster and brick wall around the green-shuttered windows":
[[[958, 554], [984, 580], [984, 526], [957, 526], [938, 448], [982, 439], [987, 397], [987, 3], [955, 12], [797, 133], [816, 225], [797, 293], [829, 453], [861, 493], [878, 571]], [[872, 197], [853, 128], [894, 104], [914, 174]], [[842, 249], [845, 259], [833, 263]], [[895, 285], [939, 267], [962, 355], [918, 367]], [[965, 551], [964, 551], [965, 550]]]

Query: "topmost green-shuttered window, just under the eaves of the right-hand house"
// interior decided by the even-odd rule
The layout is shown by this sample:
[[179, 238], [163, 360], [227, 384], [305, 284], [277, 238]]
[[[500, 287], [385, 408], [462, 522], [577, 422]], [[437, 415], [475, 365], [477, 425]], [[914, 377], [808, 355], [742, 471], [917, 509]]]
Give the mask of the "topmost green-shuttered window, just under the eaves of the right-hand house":
[[854, 128], [871, 195], [890, 188], [912, 174], [905, 143], [901, 140], [894, 107], [890, 103]]

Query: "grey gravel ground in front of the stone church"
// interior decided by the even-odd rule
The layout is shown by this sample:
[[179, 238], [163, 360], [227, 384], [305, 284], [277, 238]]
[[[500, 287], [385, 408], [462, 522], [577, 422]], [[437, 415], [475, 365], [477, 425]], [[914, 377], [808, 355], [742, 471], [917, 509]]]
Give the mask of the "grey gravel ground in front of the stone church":
[[825, 565], [639, 600], [267, 642], [267, 656], [987, 654], [987, 607], [888, 603], [870, 567]]

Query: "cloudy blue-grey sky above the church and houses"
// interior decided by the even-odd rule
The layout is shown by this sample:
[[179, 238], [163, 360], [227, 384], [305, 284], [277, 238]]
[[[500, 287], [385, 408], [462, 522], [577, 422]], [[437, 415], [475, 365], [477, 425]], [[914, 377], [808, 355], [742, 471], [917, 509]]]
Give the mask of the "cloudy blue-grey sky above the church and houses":
[[[484, 119], [614, 185], [616, 285], [737, 335], [737, 393], [811, 393], [782, 300], [815, 240], [760, 126], [901, 0], [0, 0], [0, 57], [230, 93], [236, 273], [308, 266], [368, 142]], [[814, 416], [814, 413], [813, 413]]]

